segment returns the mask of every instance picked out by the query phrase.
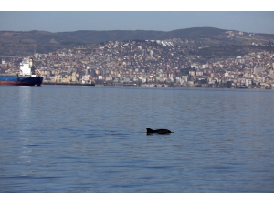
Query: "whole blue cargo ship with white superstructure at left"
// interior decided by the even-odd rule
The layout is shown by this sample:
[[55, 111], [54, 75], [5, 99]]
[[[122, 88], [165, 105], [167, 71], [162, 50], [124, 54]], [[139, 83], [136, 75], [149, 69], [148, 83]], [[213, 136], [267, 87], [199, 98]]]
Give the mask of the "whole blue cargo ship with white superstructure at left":
[[33, 58], [24, 58], [16, 75], [0, 75], [0, 85], [41, 86], [43, 77], [33, 65]]

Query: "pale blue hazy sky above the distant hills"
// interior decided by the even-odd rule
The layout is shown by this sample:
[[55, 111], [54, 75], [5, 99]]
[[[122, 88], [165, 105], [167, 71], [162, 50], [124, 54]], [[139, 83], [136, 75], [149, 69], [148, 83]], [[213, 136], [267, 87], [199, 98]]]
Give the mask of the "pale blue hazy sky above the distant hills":
[[0, 30], [44, 30], [50, 32], [116, 29], [171, 31], [181, 28], [210, 26], [222, 29], [274, 34], [273, 11], [193, 12], [162, 10], [0, 11]]

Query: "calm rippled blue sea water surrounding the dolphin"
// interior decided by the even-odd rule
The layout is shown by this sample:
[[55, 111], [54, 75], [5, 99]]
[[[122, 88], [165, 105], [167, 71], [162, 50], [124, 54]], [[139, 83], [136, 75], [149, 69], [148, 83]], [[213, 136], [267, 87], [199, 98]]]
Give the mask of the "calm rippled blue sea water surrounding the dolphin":
[[0, 192], [274, 192], [273, 90], [1, 86], [0, 99]]

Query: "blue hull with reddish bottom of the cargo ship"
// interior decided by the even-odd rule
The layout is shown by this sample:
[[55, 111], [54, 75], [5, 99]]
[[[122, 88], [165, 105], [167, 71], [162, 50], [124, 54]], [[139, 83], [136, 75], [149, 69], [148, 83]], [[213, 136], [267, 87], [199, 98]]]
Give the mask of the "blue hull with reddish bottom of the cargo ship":
[[41, 86], [43, 77], [0, 76], [0, 85]]

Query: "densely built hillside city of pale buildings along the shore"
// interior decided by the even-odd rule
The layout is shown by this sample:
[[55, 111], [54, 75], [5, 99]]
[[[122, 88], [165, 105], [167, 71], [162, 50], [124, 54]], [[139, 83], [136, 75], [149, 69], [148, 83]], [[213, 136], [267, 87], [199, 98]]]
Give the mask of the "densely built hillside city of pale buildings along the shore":
[[[180, 39], [107, 41], [34, 53], [44, 83], [143, 87], [274, 87], [274, 53], [205, 59]], [[191, 42], [190, 42], [191, 43]], [[19, 71], [22, 57], [2, 57], [1, 74]]]

